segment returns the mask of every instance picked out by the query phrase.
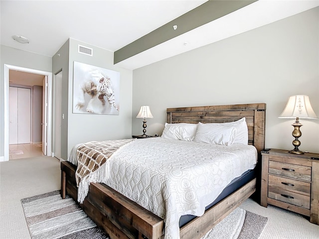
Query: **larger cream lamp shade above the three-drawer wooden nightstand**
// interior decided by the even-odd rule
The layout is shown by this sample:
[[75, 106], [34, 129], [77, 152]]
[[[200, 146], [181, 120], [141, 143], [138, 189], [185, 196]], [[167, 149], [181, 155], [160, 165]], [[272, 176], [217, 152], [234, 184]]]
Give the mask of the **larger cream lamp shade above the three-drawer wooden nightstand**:
[[300, 119], [318, 119], [311, 107], [308, 96], [297, 95], [289, 97], [284, 111], [278, 118], [293, 119], [297, 117]]

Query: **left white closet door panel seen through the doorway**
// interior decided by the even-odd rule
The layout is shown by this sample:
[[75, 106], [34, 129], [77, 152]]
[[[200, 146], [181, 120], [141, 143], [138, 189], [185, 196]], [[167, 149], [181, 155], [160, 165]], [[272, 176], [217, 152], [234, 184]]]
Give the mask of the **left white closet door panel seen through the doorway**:
[[18, 143], [18, 88], [9, 87], [9, 144]]

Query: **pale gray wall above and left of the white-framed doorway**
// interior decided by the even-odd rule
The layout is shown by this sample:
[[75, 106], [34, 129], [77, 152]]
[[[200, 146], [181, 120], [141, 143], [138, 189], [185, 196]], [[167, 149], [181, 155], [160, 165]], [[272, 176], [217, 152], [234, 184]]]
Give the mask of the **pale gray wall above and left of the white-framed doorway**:
[[0, 157], [4, 155], [4, 75], [3, 64], [51, 72], [52, 58], [0, 45]]

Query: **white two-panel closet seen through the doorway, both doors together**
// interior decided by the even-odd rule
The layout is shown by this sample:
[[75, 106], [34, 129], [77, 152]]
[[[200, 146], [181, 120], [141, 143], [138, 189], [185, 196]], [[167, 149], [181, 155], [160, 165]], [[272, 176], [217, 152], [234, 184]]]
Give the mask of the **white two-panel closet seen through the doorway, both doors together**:
[[9, 87], [9, 144], [30, 143], [31, 89]]

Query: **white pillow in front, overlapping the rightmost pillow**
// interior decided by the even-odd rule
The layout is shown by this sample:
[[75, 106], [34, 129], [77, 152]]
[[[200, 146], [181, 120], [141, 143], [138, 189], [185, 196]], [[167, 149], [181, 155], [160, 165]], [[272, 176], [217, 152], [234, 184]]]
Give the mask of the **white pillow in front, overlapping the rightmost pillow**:
[[231, 145], [234, 142], [238, 127], [222, 123], [198, 123], [194, 137], [195, 142]]

